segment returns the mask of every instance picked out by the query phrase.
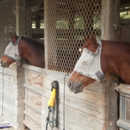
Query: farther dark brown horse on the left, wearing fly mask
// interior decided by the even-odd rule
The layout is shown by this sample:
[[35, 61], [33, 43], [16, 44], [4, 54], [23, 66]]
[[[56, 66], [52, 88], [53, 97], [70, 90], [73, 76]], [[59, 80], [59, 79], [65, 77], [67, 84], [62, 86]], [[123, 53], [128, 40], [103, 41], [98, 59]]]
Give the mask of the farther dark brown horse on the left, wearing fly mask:
[[4, 55], [1, 58], [1, 66], [9, 67], [10, 64], [16, 61], [20, 61], [24, 58], [30, 62], [30, 64], [44, 68], [44, 45], [21, 36], [17, 36], [16, 33], [10, 33], [11, 41], [5, 48]]

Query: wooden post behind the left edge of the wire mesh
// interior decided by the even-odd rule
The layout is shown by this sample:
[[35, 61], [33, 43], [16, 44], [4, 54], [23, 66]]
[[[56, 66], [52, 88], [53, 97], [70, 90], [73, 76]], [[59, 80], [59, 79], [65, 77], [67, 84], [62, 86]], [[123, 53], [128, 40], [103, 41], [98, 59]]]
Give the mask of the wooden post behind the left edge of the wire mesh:
[[[51, 8], [51, 4], [53, 2], [53, 9]], [[46, 68], [48, 68], [48, 59], [49, 56], [51, 55], [51, 48], [49, 47], [50, 43], [51, 46], [55, 47], [56, 45], [56, 0], [45, 0], [44, 1], [44, 23], [45, 23], [45, 41], [44, 41], [44, 45], [45, 45], [45, 63], [46, 63]], [[51, 3], [51, 4], [50, 4]], [[55, 57], [57, 57], [57, 52], [53, 52], [53, 55]], [[53, 65], [51, 65], [51, 69], [57, 64], [57, 60], [53, 61]]]

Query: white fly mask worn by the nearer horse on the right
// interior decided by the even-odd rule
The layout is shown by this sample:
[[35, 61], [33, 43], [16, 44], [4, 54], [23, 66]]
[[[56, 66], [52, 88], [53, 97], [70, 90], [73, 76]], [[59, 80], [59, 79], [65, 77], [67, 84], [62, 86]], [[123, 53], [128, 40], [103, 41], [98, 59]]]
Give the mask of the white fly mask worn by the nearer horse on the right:
[[101, 69], [101, 49], [102, 43], [97, 40], [98, 48], [95, 53], [87, 48], [83, 49], [82, 55], [77, 61], [74, 71], [95, 80], [101, 80], [104, 74]]

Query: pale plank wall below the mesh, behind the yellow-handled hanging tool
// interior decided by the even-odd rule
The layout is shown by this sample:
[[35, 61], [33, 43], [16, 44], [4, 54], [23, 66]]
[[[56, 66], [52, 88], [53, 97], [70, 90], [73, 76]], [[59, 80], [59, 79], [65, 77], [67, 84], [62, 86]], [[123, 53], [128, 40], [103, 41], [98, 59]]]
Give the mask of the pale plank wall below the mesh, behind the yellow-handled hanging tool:
[[[54, 80], [60, 85], [60, 125], [57, 130], [63, 129], [64, 75], [60, 72], [43, 70], [42, 130], [46, 126], [47, 102], [51, 92], [51, 82]], [[68, 78], [66, 83], [67, 80]], [[106, 81], [103, 85], [95, 82], [79, 94], [70, 92], [65, 86], [66, 130], [117, 130], [117, 93], [114, 84], [111, 84], [111, 87], [107, 84]]]

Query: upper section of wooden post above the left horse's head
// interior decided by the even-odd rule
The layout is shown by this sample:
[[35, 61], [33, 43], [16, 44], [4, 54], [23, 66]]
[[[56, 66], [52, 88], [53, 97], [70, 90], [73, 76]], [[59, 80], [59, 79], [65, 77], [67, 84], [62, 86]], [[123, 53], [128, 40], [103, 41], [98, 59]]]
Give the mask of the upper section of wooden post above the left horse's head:
[[25, 0], [16, 0], [16, 34], [25, 35]]

